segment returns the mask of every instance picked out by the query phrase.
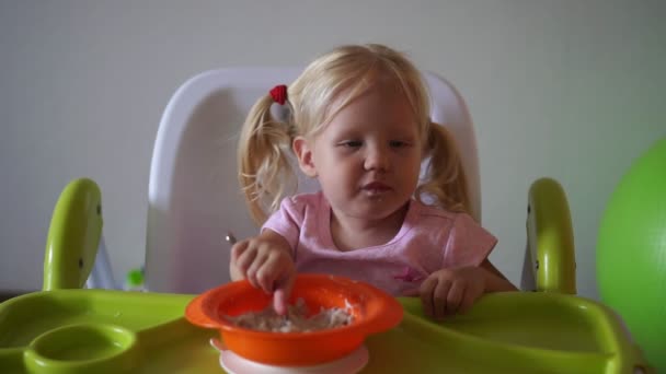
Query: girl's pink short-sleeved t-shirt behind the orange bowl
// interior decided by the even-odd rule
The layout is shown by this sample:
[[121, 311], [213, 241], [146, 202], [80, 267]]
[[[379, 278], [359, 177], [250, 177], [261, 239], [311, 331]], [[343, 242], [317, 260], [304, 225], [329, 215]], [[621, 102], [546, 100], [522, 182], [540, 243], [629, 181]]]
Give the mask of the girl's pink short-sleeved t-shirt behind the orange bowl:
[[427, 276], [443, 268], [479, 266], [497, 239], [470, 215], [412, 199], [402, 227], [390, 242], [342, 252], [331, 236], [331, 206], [323, 194], [285, 198], [262, 230], [289, 243], [298, 272], [343, 276], [394, 296], [416, 295]]

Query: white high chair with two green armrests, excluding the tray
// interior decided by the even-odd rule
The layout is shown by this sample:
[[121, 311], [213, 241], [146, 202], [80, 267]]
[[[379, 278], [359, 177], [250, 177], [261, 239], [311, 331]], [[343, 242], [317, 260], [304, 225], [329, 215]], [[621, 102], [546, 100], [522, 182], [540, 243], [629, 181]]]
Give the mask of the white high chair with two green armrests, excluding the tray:
[[[150, 167], [145, 289], [199, 293], [230, 280], [227, 234], [242, 238], [259, 232], [238, 184], [238, 135], [255, 101], [299, 73], [296, 68], [214, 70], [190, 79], [175, 92], [162, 115]], [[467, 105], [445, 79], [430, 72], [424, 79], [430, 117], [447, 126], [457, 141], [471, 214], [481, 222], [479, 160]], [[318, 188], [315, 180], [298, 177], [300, 192]], [[523, 289], [575, 293], [573, 232], [564, 191], [556, 182], [542, 178], [530, 187], [528, 200]], [[96, 184], [72, 182], [51, 219], [45, 290], [80, 288], [87, 279], [89, 288], [118, 288], [101, 227]]]

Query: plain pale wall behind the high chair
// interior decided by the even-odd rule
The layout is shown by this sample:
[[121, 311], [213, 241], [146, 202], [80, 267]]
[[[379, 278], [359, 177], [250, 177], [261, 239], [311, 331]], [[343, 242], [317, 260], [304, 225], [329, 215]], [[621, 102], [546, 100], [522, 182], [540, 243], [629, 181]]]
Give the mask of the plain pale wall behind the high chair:
[[[518, 281], [529, 184], [572, 209], [583, 295], [596, 296], [605, 203], [666, 136], [666, 7], [653, 1], [0, 2], [0, 289], [34, 290], [49, 217], [74, 177], [103, 191], [116, 277], [143, 259], [162, 110], [190, 77], [294, 66], [378, 42], [451, 80], [479, 137], [492, 260]], [[267, 87], [268, 89], [268, 87]]]

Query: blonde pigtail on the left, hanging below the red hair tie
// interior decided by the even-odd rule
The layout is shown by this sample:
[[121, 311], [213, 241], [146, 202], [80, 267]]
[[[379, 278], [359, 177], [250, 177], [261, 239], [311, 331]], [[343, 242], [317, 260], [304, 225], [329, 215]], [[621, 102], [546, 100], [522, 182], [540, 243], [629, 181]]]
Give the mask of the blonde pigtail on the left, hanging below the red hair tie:
[[[292, 120], [279, 121], [271, 115], [274, 100], [260, 98], [250, 109], [238, 149], [239, 182], [252, 219], [262, 224], [279, 207], [295, 174], [288, 152], [294, 137]], [[288, 102], [285, 103], [289, 106]]]

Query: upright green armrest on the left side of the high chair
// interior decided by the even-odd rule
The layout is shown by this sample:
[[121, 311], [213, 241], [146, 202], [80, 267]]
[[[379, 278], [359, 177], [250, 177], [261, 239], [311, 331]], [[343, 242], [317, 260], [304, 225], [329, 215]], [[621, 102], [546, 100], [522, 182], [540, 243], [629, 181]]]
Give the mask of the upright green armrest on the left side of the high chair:
[[70, 182], [50, 220], [44, 258], [45, 291], [80, 289], [97, 255], [102, 235], [102, 194], [87, 178]]

